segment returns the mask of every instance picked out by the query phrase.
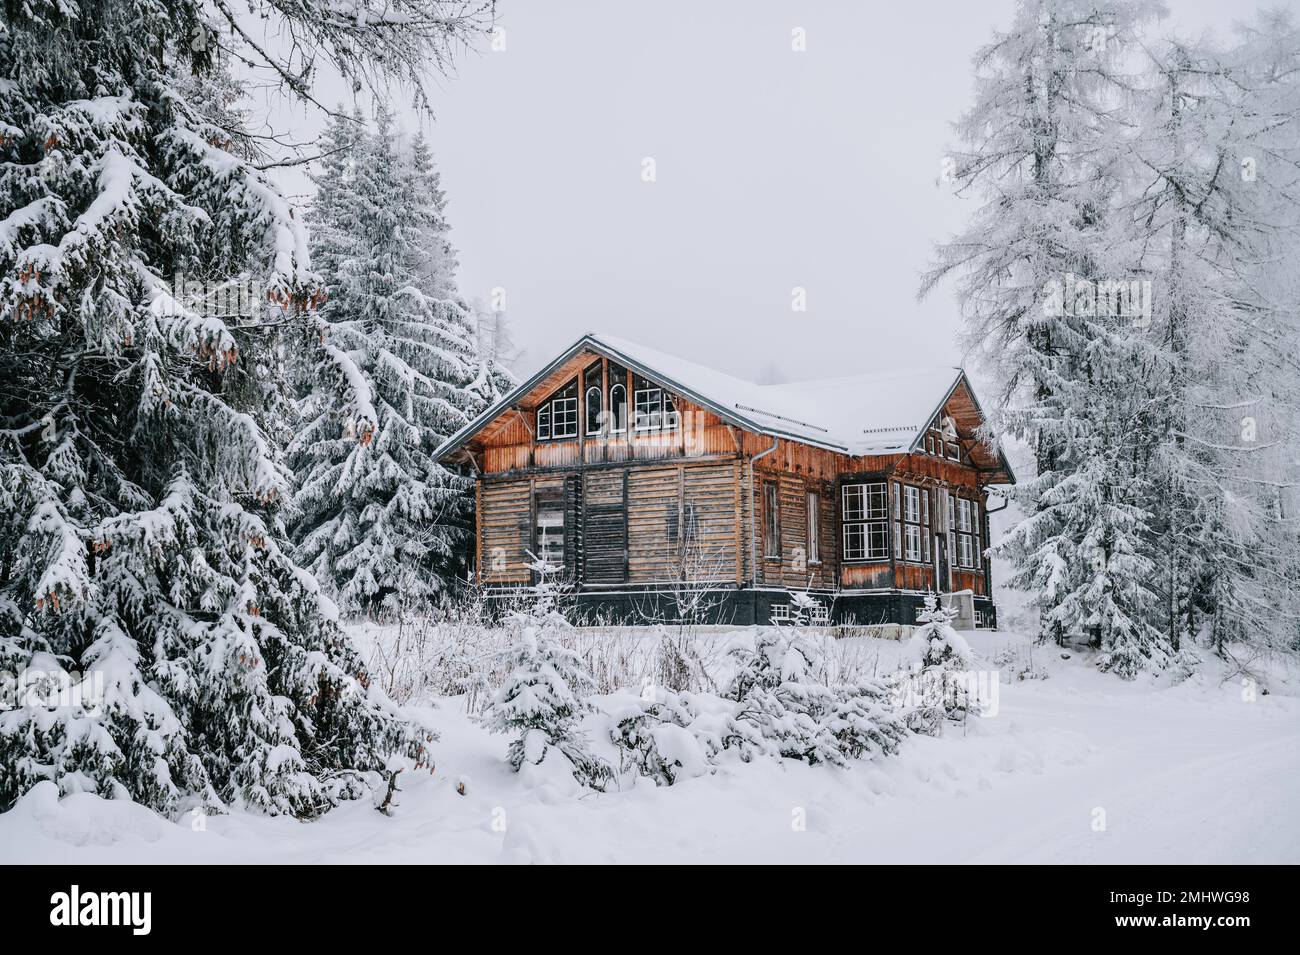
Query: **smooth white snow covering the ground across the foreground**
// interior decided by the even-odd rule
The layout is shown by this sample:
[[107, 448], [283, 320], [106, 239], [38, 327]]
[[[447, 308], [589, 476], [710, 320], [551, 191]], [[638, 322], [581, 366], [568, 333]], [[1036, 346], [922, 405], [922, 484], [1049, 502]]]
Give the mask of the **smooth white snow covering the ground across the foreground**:
[[[987, 657], [1024, 643], [970, 641]], [[1300, 863], [1294, 690], [1248, 702], [1214, 663], [1158, 687], [1079, 655], [1035, 661], [1048, 678], [1001, 683], [996, 716], [896, 758], [728, 764], [608, 794], [525, 786], [506, 738], [445, 700], [428, 711], [437, 773], [407, 780], [393, 817], [354, 804], [311, 824], [214, 816], [196, 832], [129, 803], [57, 800], [47, 783], [0, 815], [0, 863]]]

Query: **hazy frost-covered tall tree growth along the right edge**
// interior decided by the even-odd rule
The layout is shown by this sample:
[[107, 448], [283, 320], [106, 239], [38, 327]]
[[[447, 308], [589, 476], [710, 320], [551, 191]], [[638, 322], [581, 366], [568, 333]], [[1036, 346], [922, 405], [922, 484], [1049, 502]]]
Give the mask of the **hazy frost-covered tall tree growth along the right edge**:
[[1202, 630], [1218, 648], [1284, 646], [1300, 622], [1295, 525], [1277, 507], [1300, 447], [1300, 303], [1271, 277], [1296, 249], [1300, 30], [1271, 12], [1230, 45], [1148, 51], [1124, 213], [1131, 268], [1154, 286], [1141, 426], [1157, 624], [1175, 648]]

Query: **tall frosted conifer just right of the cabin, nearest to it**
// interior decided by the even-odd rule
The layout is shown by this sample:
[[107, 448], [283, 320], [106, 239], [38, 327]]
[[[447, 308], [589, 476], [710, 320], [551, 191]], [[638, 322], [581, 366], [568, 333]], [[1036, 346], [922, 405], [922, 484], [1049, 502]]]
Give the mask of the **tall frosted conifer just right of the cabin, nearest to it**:
[[[1126, 64], [1156, 4], [1023, 0], [1013, 27], [976, 56], [976, 103], [958, 131], [961, 191], [985, 196], [939, 249], [923, 292], [958, 275], [967, 340], [1002, 383], [993, 430], [1024, 440], [1036, 474], [1027, 515], [996, 546], [1032, 592], [1040, 639], [1106, 646], [1130, 621], [1143, 639], [1153, 600], [1150, 498], [1135, 483], [1132, 383], [1152, 357], [1132, 314], [1097, 309], [1093, 290], [1124, 260], [1115, 225], [1126, 140]], [[1117, 265], [1119, 262], [1119, 265]], [[1123, 272], [1118, 274], [1123, 275]], [[1076, 290], [1080, 290], [1076, 295]], [[1127, 638], [1124, 638], [1127, 639]], [[1158, 667], [1166, 647], [1143, 655]]]

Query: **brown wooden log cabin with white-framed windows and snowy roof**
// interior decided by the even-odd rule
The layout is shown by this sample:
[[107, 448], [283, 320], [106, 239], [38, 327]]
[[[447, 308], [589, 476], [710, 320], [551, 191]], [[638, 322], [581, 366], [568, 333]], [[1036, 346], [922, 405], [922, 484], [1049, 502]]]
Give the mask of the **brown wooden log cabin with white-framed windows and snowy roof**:
[[763, 386], [590, 334], [437, 453], [476, 474], [490, 592], [536, 556], [611, 618], [766, 624], [805, 591], [835, 622], [914, 624], [968, 592], [994, 626], [987, 492], [1014, 476], [983, 421], [957, 368]]

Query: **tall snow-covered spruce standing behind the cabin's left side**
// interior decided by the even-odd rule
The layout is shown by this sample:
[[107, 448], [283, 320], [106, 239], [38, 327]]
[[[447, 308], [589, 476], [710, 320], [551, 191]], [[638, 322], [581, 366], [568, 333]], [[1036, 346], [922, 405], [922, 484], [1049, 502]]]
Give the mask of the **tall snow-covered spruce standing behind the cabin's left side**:
[[432, 455], [490, 387], [426, 147], [403, 149], [381, 112], [373, 129], [337, 120], [326, 153], [311, 225], [329, 295], [289, 447], [294, 538], [344, 611], [393, 613], [437, 600], [464, 564], [471, 482]]

